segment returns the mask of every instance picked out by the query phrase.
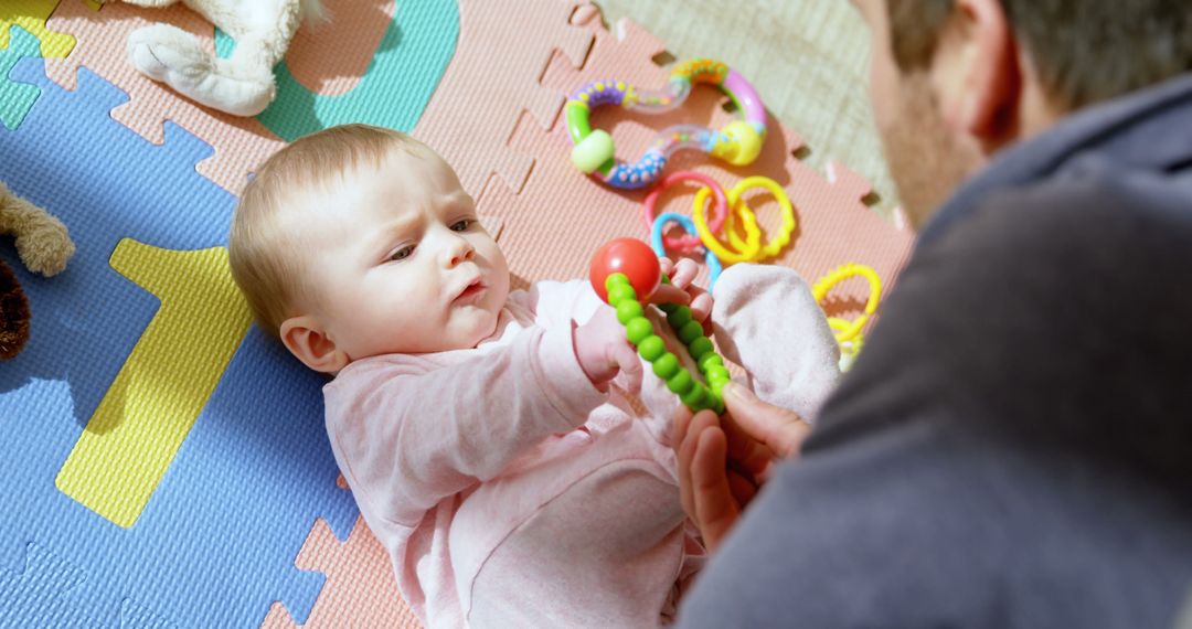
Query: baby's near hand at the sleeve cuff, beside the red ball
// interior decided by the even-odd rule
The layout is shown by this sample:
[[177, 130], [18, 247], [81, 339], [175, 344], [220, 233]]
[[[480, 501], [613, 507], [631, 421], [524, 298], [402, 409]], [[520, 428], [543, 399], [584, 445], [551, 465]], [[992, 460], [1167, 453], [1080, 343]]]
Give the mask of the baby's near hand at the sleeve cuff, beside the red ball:
[[588, 323], [577, 326], [571, 342], [579, 367], [596, 388], [604, 391], [617, 372], [625, 372], [628, 391], [641, 390], [641, 360], [610, 306], [601, 306]]

